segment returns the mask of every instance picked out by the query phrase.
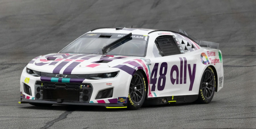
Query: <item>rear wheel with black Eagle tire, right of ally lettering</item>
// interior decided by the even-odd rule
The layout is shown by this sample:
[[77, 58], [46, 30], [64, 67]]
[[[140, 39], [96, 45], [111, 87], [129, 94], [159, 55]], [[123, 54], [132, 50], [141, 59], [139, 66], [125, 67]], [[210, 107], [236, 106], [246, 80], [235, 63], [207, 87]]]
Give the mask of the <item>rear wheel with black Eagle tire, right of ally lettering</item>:
[[210, 103], [215, 92], [215, 75], [211, 66], [208, 66], [201, 78], [197, 102], [200, 104]]

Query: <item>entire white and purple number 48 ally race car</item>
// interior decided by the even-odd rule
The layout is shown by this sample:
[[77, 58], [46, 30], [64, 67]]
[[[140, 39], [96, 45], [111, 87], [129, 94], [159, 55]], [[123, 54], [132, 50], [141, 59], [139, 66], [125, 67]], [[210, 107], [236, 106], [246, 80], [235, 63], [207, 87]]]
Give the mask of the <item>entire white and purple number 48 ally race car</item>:
[[23, 69], [20, 101], [35, 106], [210, 103], [223, 87], [218, 43], [183, 30], [96, 28]]

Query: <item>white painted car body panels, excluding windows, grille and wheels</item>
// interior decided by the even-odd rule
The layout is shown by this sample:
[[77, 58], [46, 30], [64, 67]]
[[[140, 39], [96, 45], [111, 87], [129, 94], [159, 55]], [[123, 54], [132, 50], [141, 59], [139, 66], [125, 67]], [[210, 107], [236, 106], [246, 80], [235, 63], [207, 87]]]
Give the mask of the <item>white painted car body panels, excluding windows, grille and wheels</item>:
[[[75, 104], [75, 105], [100, 105], [105, 107], [127, 107], [128, 90], [132, 75], [137, 70], [143, 70], [147, 82], [147, 95], [145, 103], [150, 104], [151, 99], [167, 98], [167, 101], [176, 100], [179, 103], [179, 96], [198, 96], [199, 85], [204, 70], [208, 66], [214, 67], [215, 91], [223, 88], [223, 63], [220, 50], [213, 48], [200, 47], [191, 39], [174, 32], [155, 31], [149, 29], [124, 28], [103, 28], [90, 31], [84, 35], [100, 33], [119, 33], [143, 35], [147, 39], [146, 55], [144, 57], [108, 55], [108, 54], [79, 54], [79, 53], [53, 53], [36, 57], [26, 65], [20, 78], [21, 103], [51, 103], [51, 104]], [[151, 32], [150, 34], [148, 34]], [[84, 36], [83, 35], [83, 36]], [[181, 44], [182, 54], [164, 57], [155, 57], [153, 47], [158, 36], [174, 36], [176, 42]], [[123, 35], [120, 35], [122, 37]], [[134, 37], [135, 38], [135, 37]], [[138, 37], [141, 38], [141, 37]], [[76, 40], [75, 40], [76, 41]], [[184, 52], [184, 46], [192, 45], [189, 51]], [[205, 53], [205, 55], [203, 54]], [[203, 55], [201, 59], [201, 55]], [[50, 58], [53, 58], [50, 60]], [[221, 58], [221, 59], [220, 59]], [[149, 59], [149, 60], [148, 60]], [[208, 60], [207, 60], [208, 59]], [[109, 60], [108, 63], [95, 63], [100, 60]], [[203, 64], [203, 63], [205, 64]], [[58, 74], [95, 74], [120, 71], [115, 78], [109, 79], [68, 79], [58, 77], [36, 77], [26, 73], [26, 68], [45, 73]], [[55, 75], [56, 74], [56, 75]], [[160, 76], [161, 74], [161, 76]], [[27, 83], [28, 81], [28, 83]], [[36, 100], [36, 81], [44, 82], [67, 82], [91, 84], [93, 91], [90, 93], [88, 103], [68, 103], [55, 101]], [[152, 84], [153, 81], [155, 84]], [[31, 89], [31, 95], [25, 93], [24, 83]], [[42, 84], [43, 85], [43, 84]], [[40, 86], [40, 85], [39, 85]], [[82, 85], [81, 85], [82, 88]], [[95, 99], [99, 91], [113, 88], [113, 95], [110, 98]], [[42, 97], [42, 95], [41, 95]], [[150, 99], [151, 98], [151, 99]], [[172, 99], [171, 99], [172, 98]], [[82, 97], [80, 97], [81, 101]], [[185, 98], [186, 99], [186, 98]], [[192, 100], [191, 100], [192, 101]], [[195, 101], [193, 99], [193, 101]], [[190, 101], [180, 101], [190, 102]], [[108, 105], [108, 104], [113, 105]], [[116, 103], [116, 105], [115, 105]], [[157, 103], [152, 103], [157, 104]], [[159, 103], [160, 104], [160, 103]]]

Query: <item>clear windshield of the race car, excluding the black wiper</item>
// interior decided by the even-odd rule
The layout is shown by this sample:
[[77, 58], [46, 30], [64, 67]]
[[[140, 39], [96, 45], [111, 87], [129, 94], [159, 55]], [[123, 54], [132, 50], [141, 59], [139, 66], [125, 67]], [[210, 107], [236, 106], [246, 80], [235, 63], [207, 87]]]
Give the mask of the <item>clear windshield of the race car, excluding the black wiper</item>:
[[[65, 47], [60, 53], [89, 53], [102, 54], [102, 48], [116, 39], [127, 34], [117, 33], [87, 33], [78, 38], [73, 43]], [[146, 46], [148, 36], [133, 34], [129, 40], [122, 41], [118, 47], [112, 49], [106, 54], [128, 55], [128, 56], [146, 56]]]

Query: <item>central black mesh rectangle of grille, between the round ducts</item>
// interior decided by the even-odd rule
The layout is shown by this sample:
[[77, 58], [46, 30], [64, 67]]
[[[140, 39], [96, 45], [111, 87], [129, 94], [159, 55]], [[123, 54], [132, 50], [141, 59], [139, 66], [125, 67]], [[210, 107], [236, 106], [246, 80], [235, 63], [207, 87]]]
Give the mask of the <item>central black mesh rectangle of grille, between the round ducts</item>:
[[43, 90], [43, 100], [57, 101], [57, 99], [63, 99], [63, 101], [79, 101], [80, 92], [77, 90]]

